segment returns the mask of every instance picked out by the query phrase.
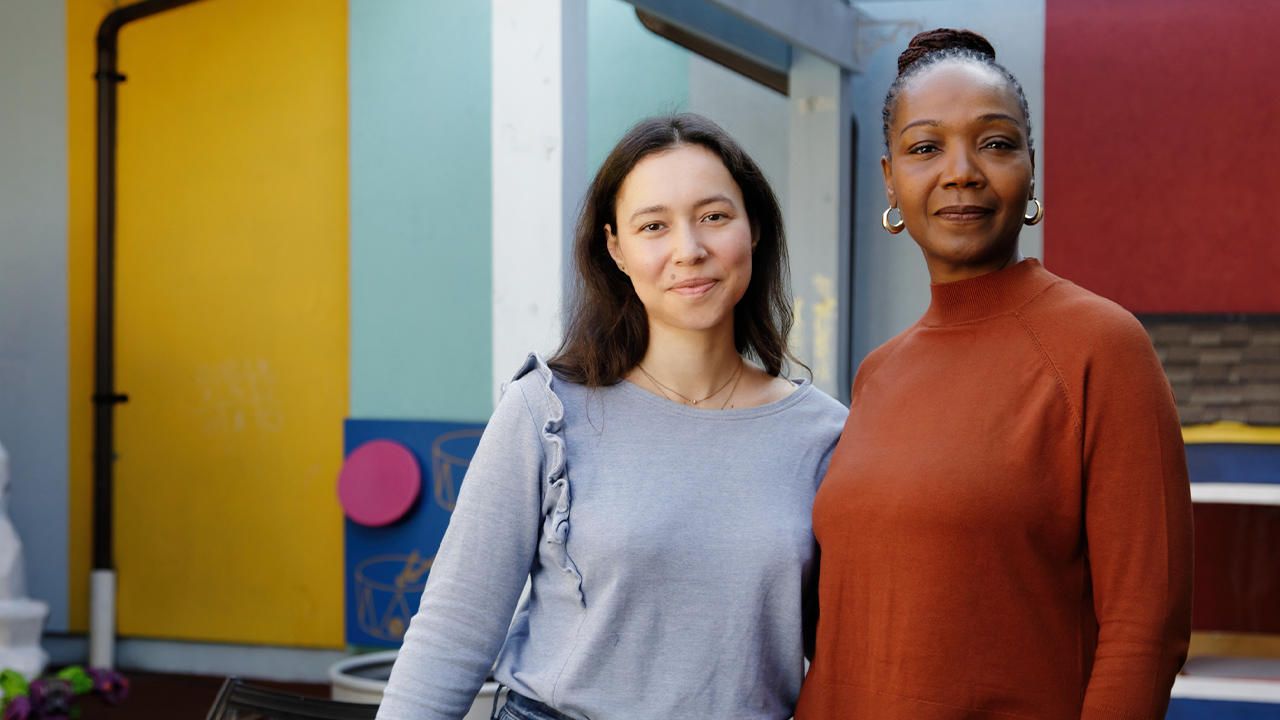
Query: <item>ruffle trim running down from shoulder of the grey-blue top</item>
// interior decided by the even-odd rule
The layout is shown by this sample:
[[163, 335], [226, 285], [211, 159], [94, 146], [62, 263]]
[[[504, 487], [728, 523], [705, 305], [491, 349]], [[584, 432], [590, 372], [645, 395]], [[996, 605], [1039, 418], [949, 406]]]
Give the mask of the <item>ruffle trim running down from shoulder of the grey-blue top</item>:
[[[582, 574], [568, 555], [568, 519], [572, 496], [568, 486], [568, 465], [564, 448], [564, 404], [556, 395], [556, 375], [536, 352], [530, 352], [520, 372], [511, 379], [516, 382], [529, 373], [538, 373], [543, 383], [538, 388], [543, 392], [543, 402], [538, 411], [545, 410], [547, 420], [541, 428], [543, 454], [545, 457], [543, 480], [543, 537], [552, 548], [561, 570], [568, 573], [577, 583], [577, 598], [586, 607], [586, 594], [582, 592]], [[526, 386], [527, 392], [527, 386]], [[532, 398], [530, 398], [532, 400]]]

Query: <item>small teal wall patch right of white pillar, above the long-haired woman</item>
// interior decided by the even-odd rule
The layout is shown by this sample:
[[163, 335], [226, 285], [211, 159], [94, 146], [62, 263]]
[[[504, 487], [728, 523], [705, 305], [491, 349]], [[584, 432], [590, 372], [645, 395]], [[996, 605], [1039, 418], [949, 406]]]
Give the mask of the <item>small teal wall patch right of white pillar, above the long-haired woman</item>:
[[636, 120], [689, 109], [689, 51], [645, 29], [622, 0], [588, 4], [588, 161], [594, 174]]

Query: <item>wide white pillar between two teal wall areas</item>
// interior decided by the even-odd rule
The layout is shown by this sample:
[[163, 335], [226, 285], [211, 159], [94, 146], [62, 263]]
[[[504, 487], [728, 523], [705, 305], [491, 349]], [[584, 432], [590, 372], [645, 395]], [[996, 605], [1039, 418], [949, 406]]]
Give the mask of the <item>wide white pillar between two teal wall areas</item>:
[[561, 337], [586, 187], [586, 0], [492, 0], [493, 380]]

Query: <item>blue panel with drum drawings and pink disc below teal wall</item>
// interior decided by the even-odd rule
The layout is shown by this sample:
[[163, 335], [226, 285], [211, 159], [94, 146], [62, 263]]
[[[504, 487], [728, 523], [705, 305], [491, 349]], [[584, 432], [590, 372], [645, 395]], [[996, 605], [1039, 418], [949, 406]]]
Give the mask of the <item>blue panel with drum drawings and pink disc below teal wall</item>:
[[484, 425], [347, 420], [343, 430], [347, 643], [398, 647]]

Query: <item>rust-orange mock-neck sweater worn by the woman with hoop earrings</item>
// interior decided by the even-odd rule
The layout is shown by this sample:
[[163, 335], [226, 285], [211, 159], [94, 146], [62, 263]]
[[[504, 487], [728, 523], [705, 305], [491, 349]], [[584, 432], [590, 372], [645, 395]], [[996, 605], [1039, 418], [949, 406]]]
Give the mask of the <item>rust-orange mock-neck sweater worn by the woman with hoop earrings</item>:
[[872, 352], [814, 502], [796, 720], [1161, 720], [1192, 511], [1138, 322], [1037, 260], [932, 286]]

